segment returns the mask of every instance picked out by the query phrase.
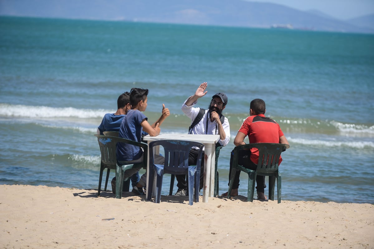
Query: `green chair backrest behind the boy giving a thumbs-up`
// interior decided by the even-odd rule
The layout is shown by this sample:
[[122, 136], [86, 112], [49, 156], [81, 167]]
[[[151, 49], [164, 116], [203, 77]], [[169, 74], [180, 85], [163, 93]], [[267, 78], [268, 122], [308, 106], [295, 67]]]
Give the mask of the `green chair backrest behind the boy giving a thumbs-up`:
[[[116, 157], [116, 146], [117, 143], [127, 143], [134, 146], [141, 147], [143, 150], [143, 157], [141, 160], [135, 161], [124, 161], [122, 165], [125, 164], [141, 164], [147, 162], [147, 155], [148, 155], [148, 144], [146, 143], [138, 143], [136, 141], [132, 141], [122, 137], [113, 137], [113, 136], [105, 136], [105, 135], [97, 135], [97, 140], [99, 141], [100, 151], [101, 151], [101, 161], [106, 165], [117, 165], [117, 157]], [[146, 167], [146, 166], [144, 166]]]

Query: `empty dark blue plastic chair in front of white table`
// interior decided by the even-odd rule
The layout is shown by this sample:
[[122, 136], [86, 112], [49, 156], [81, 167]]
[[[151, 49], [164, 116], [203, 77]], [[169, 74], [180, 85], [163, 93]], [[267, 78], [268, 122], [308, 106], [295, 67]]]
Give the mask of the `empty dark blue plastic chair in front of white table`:
[[[165, 153], [165, 164], [159, 165], [154, 164], [153, 147], [162, 146]], [[197, 154], [196, 165], [188, 166], [188, 155], [192, 147], [198, 147], [199, 152]], [[160, 203], [161, 200], [161, 187], [162, 179], [164, 174], [174, 175], [188, 175], [188, 195], [189, 204], [199, 202], [199, 183], [200, 183], [200, 167], [204, 145], [193, 141], [182, 141], [182, 140], [159, 140], [152, 141], [149, 144], [150, 158], [150, 172], [148, 172], [148, 183], [147, 191], [149, 192], [147, 200], [150, 200], [153, 194], [153, 182], [154, 176], [156, 175], [156, 191], [155, 191], [155, 202]], [[194, 195], [193, 190], [195, 189]]]

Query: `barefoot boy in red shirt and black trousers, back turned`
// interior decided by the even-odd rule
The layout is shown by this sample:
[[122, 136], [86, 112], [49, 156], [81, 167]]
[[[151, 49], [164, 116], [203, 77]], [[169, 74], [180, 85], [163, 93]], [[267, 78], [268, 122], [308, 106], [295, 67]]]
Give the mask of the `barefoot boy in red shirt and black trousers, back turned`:
[[[266, 106], [262, 99], [254, 99], [251, 101], [249, 116], [245, 119], [236, 134], [234, 139], [234, 145], [239, 146], [245, 144], [244, 138], [248, 136], [249, 143], [283, 143], [288, 144], [286, 137], [284, 136], [281, 127], [273, 119], [265, 117]], [[233, 152], [231, 152], [230, 158], [230, 174], [232, 168]], [[279, 164], [281, 164], [282, 158], [279, 158]], [[258, 163], [258, 149], [252, 148], [251, 150], [240, 150], [238, 164], [252, 170], [257, 169]], [[230, 196], [237, 196], [237, 189], [239, 188], [239, 176], [240, 171], [236, 171], [233, 189]], [[230, 175], [229, 175], [230, 179]], [[266, 200], [264, 189], [266, 188], [265, 176], [257, 175], [257, 199]], [[230, 183], [229, 183], [230, 184]], [[222, 194], [227, 196], [227, 192]]]

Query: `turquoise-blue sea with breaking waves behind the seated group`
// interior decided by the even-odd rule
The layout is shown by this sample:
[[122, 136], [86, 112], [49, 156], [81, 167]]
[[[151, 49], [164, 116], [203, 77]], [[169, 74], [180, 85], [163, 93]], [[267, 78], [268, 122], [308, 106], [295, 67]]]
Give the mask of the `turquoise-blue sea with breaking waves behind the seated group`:
[[[203, 82], [198, 107], [221, 91], [229, 100], [220, 193], [260, 98], [291, 146], [282, 200], [374, 204], [374, 35], [344, 32], [1, 16], [0, 184], [97, 189], [93, 135], [117, 97], [148, 88], [148, 121], [165, 104], [161, 133], [187, 133], [181, 105]], [[242, 173], [239, 194], [247, 184]]]

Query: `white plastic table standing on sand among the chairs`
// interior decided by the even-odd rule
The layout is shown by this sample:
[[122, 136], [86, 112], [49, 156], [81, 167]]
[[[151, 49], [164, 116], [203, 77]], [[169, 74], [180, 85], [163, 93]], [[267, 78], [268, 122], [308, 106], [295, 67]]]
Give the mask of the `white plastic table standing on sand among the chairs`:
[[[220, 139], [220, 135], [195, 135], [195, 134], [160, 134], [156, 137], [151, 137], [149, 135], [143, 137], [144, 141], [148, 141], [148, 144], [151, 141], [157, 140], [188, 140], [196, 141], [204, 144], [205, 147], [205, 171], [204, 171], [204, 186], [203, 186], [203, 202], [208, 202], [208, 196], [212, 197], [214, 195], [214, 175], [215, 175], [215, 144]], [[148, 153], [149, 150], [148, 150]], [[148, 155], [149, 158], [149, 155]], [[147, 172], [149, 172], [149, 160], [147, 162]], [[210, 174], [209, 174], [210, 172]], [[149, 184], [149, 178], [147, 173], [147, 186]], [[147, 191], [147, 197], [150, 194]]]

